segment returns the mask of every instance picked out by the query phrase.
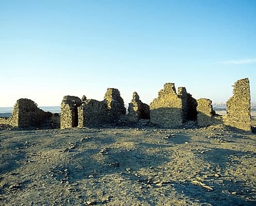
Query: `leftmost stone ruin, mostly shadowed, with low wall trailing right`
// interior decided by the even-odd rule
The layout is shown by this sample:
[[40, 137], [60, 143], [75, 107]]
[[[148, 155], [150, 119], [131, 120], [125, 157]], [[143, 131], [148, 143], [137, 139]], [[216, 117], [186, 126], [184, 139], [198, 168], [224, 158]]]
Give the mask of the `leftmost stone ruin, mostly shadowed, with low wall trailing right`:
[[18, 99], [9, 118], [0, 118], [0, 124], [19, 128], [57, 128], [59, 127], [58, 114], [44, 112], [31, 99]]

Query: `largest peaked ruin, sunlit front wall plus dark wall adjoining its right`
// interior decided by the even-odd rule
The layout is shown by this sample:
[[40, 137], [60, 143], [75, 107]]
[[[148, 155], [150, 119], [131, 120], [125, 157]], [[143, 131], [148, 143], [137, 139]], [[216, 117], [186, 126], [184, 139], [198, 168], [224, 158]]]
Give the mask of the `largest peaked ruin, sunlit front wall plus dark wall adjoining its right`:
[[165, 128], [179, 127], [197, 119], [197, 101], [184, 87], [179, 87], [176, 93], [174, 83], [164, 84], [149, 109], [150, 122]]

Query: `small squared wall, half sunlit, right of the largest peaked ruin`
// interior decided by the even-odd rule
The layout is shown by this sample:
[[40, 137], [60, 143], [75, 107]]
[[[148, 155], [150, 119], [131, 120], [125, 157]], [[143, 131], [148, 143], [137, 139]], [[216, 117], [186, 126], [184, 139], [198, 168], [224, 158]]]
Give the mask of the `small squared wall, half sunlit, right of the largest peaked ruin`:
[[201, 98], [197, 100], [198, 126], [207, 127], [213, 124], [214, 110], [210, 99]]

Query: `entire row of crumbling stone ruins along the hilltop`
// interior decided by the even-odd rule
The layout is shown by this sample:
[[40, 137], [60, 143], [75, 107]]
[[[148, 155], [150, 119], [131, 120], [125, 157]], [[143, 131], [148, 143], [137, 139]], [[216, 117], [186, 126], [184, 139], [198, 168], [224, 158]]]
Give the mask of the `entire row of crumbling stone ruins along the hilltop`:
[[[233, 96], [227, 101], [227, 115], [220, 117], [224, 125], [251, 130], [249, 79], [240, 79], [234, 84]], [[194, 99], [186, 88], [179, 87], [176, 93], [174, 83], [165, 83], [150, 106], [144, 104], [134, 92], [128, 107], [117, 89], [108, 88], [104, 100], [80, 99], [64, 96], [61, 117], [44, 112], [30, 99], [19, 99], [14, 105], [11, 117], [0, 117], [0, 124], [20, 128], [101, 127], [107, 125], [137, 124], [140, 119], [164, 128], [179, 128], [187, 121], [197, 121], [200, 127], [215, 123], [215, 111], [210, 99]], [[216, 123], [215, 123], [216, 124]]]

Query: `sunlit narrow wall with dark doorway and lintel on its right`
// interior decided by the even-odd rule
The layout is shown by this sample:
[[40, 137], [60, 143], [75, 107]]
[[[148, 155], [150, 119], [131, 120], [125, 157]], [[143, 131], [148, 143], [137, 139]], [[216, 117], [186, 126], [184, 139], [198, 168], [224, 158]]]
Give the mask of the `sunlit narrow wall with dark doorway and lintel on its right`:
[[78, 107], [82, 104], [79, 97], [64, 96], [61, 104], [61, 129], [78, 126]]

